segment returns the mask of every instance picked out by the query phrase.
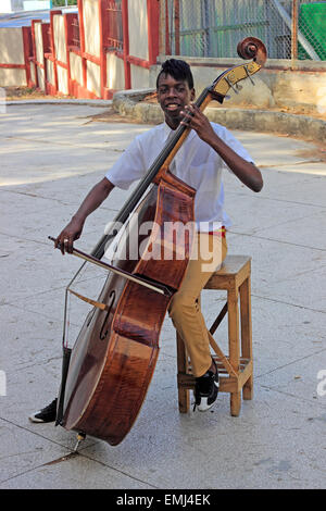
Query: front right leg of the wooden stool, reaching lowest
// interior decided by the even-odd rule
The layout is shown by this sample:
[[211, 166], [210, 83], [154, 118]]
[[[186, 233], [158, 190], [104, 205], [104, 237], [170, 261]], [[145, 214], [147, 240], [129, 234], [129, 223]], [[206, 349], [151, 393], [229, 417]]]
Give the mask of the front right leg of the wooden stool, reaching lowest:
[[[239, 346], [239, 295], [238, 290], [227, 292], [228, 303], [228, 342], [229, 342], [229, 362], [236, 373], [239, 373], [240, 365], [240, 346]], [[241, 392], [230, 392], [230, 414], [238, 416], [241, 409]]]

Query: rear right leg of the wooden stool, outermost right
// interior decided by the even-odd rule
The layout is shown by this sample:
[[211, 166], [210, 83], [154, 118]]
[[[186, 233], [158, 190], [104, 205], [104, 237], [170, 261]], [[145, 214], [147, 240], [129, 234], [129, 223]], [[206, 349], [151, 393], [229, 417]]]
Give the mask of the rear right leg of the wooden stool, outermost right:
[[[250, 276], [246, 278], [240, 287], [240, 311], [241, 311], [241, 352], [244, 359], [252, 362], [252, 326], [251, 326], [251, 290]], [[253, 377], [247, 379], [242, 388], [243, 399], [253, 397]]]

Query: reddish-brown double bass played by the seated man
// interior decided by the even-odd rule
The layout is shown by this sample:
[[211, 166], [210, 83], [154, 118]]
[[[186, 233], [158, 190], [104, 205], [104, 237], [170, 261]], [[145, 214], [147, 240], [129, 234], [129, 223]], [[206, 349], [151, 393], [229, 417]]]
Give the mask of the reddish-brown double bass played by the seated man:
[[[228, 68], [206, 87], [196, 101], [201, 111], [212, 100], [223, 103], [230, 88], [237, 91], [238, 82], [251, 79], [264, 65], [266, 49], [259, 39], [246, 38], [237, 51], [251, 62]], [[78, 439], [90, 435], [118, 445], [133, 427], [149, 388], [159, 356], [160, 331], [191, 253], [191, 233], [178, 239], [174, 229], [164, 229], [166, 223], [193, 225], [196, 190], [168, 170], [189, 130], [187, 125], [178, 126], [92, 252], [73, 249], [73, 254], [109, 271], [98, 300], [75, 292], [91, 303], [92, 310], [73, 348], [67, 347], [64, 322], [55, 424], [76, 431]], [[133, 225], [134, 215], [137, 225], [153, 225], [147, 239], [139, 236], [143, 249], [137, 258], [115, 259], [114, 265], [102, 262], [121, 226]], [[125, 246], [118, 244], [128, 244], [128, 236], [131, 234], [121, 237], [117, 252], [126, 253]], [[156, 253], [166, 254], [167, 250], [168, 257], [152, 258], [153, 248]]]

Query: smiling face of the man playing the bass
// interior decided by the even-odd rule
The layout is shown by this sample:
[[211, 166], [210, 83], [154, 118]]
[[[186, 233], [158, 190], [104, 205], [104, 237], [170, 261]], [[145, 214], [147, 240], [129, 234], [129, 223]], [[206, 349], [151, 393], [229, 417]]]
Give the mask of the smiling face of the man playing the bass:
[[165, 115], [166, 124], [176, 129], [183, 119], [180, 115], [186, 104], [195, 99], [195, 89], [187, 82], [175, 79], [162, 73], [158, 84], [158, 101]]

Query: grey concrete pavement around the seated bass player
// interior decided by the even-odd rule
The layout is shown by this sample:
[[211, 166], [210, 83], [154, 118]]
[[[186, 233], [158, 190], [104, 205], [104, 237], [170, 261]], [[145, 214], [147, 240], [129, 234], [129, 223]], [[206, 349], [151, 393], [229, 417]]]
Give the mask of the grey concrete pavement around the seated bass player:
[[[205, 414], [178, 413], [167, 317], [146, 402], [120, 446], [87, 437], [70, 457], [74, 432], [28, 422], [57, 395], [64, 289], [80, 265], [47, 237], [149, 128], [92, 122], [103, 111], [20, 104], [0, 114], [0, 488], [325, 488], [326, 163], [313, 144], [288, 137], [236, 133], [262, 169], [260, 194], [225, 173], [229, 253], [253, 258], [254, 399], [240, 416], [226, 394]], [[128, 194], [113, 191], [77, 248], [95, 246]], [[208, 324], [223, 303], [223, 294], [203, 294]], [[225, 338], [223, 323], [222, 347]]]

